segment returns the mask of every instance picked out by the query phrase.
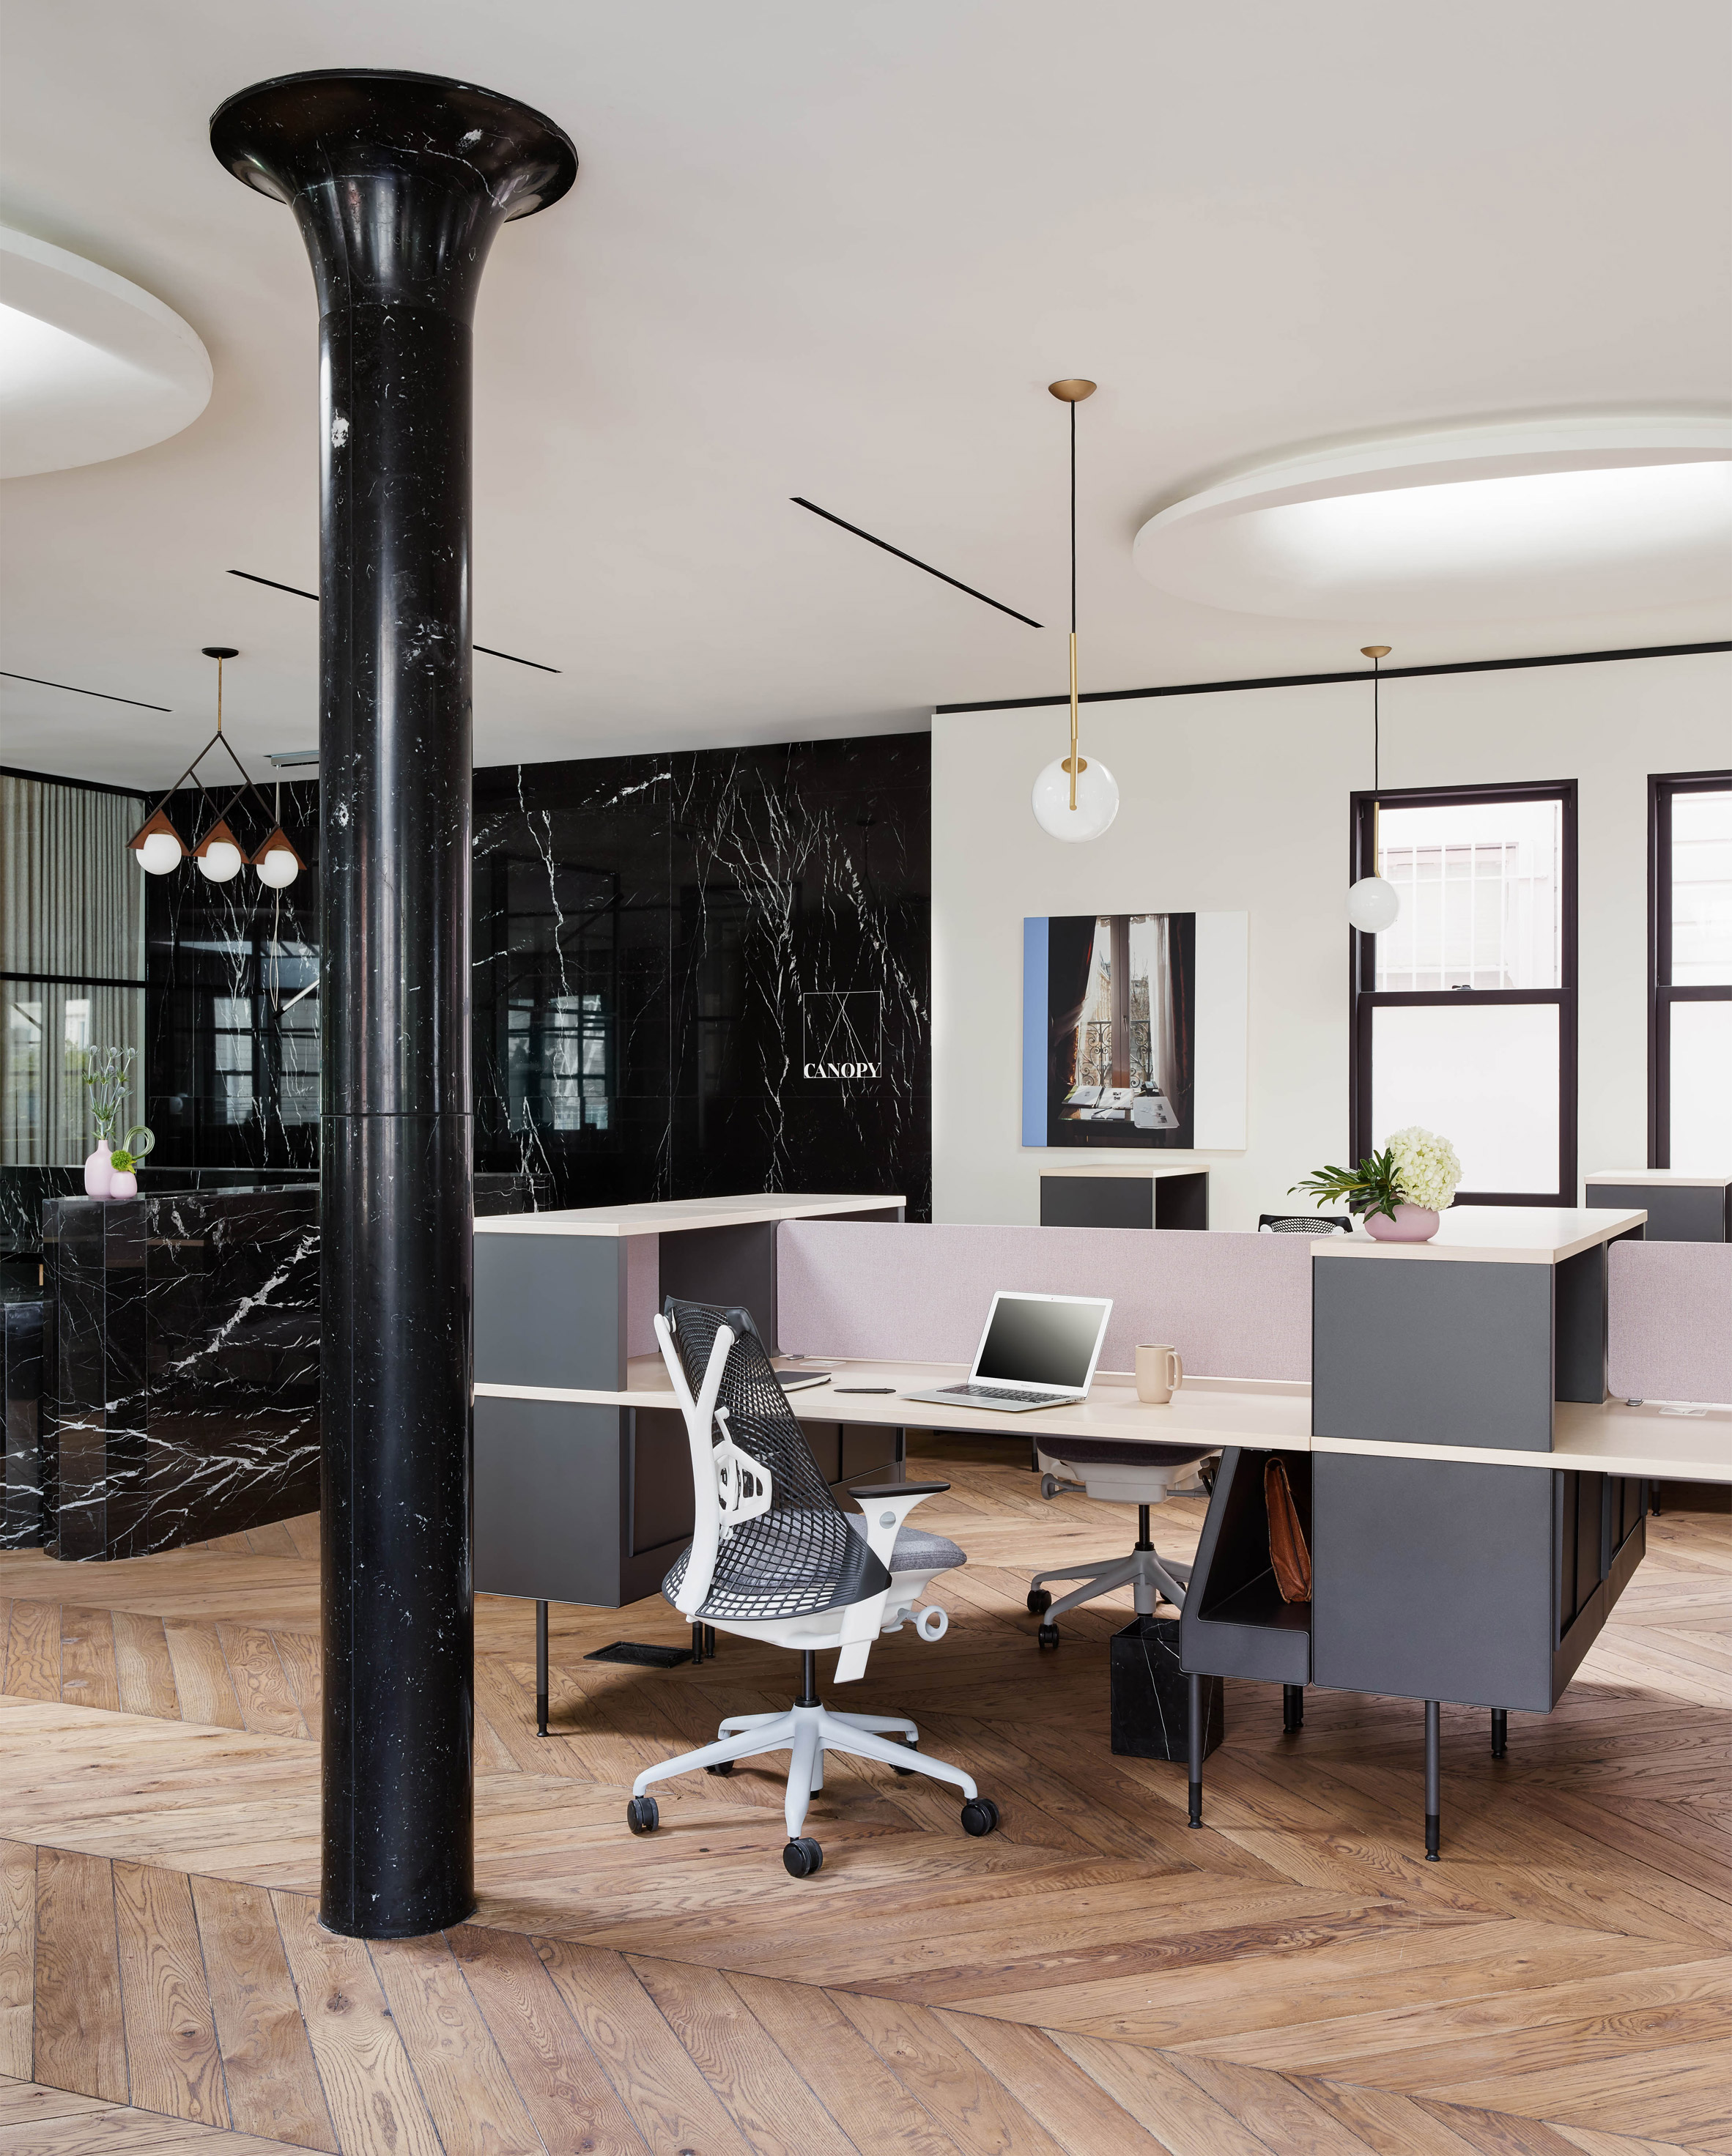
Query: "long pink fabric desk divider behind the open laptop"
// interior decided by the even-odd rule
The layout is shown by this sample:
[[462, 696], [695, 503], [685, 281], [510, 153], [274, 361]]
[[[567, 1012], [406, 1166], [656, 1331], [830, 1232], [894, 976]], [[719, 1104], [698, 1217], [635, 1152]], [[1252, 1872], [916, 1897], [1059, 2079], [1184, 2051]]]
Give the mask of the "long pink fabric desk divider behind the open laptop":
[[1111, 1296], [1102, 1369], [1169, 1341], [1197, 1378], [1311, 1376], [1309, 1235], [783, 1220], [787, 1354], [971, 1363], [992, 1291]]

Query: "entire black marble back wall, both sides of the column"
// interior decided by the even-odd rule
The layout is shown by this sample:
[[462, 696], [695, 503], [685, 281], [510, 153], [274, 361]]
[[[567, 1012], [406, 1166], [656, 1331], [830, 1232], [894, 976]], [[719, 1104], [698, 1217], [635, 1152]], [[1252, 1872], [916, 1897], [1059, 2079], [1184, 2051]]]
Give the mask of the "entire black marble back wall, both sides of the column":
[[[477, 772], [477, 1169], [927, 1218], [930, 768], [904, 733]], [[313, 858], [315, 785], [283, 821]], [[147, 929], [153, 1169], [317, 1166], [317, 869], [183, 867]]]

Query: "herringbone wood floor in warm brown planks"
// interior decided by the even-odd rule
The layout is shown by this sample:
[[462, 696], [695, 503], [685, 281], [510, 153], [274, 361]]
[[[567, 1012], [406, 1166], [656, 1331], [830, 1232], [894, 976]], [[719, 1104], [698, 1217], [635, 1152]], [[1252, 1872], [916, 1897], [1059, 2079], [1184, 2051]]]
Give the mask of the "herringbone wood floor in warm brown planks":
[[[1040, 1656], [1029, 1572], [1128, 1546], [1042, 1505], [1016, 1447], [945, 1455], [971, 1554], [938, 1645], [848, 1705], [908, 1710], [1003, 1811], [833, 1761], [824, 1871], [779, 1783], [638, 1764], [774, 1708], [792, 1660], [585, 1662], [682, 1639], [660, 1602], [477, 1621], [481, 1908], [431, 1940], [315, 1925], [317, 1537], [287, 1522], [104, 1567], [0, 1557], [0, 2156], [298, 2145], [382, 2156], [1732, 2156], [1732, 1522], [1650, 1554], [1549, 1718], [1445, 1710], [1445, 1863], [1419, 1710], [1229, 1686], [1208, 1830], [1184, 1770], [1106, 1746], [1106, 1634]], [[938, 1460], [923, 1466], [938, 1466]], [[1201, 1511], [1156, 1539], [1186, 1554]]]

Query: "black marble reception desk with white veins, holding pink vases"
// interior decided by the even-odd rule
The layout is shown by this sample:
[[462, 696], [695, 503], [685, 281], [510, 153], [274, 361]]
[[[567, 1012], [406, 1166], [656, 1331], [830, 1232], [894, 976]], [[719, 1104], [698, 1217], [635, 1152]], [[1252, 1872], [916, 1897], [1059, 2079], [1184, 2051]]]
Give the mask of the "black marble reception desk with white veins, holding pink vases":
[[[539, 1194], [475, 1179], [479, 1214]], [[39, 1414], [6, 1326], [6, 1546], [145, 1557], [317, 1507], [317, 1184], [50, 1199], [41, 1250]]]

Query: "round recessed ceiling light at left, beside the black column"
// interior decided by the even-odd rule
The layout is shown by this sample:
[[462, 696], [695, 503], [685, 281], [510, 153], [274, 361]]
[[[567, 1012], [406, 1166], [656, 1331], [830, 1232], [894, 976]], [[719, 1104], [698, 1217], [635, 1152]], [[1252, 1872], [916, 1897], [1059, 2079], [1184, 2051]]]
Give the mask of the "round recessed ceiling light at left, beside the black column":
[[211, 399], [198, 334], [112, 270], [0, 226], [0, 476], [127, 457]]

